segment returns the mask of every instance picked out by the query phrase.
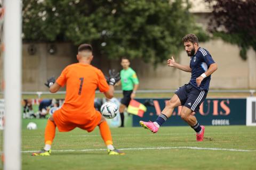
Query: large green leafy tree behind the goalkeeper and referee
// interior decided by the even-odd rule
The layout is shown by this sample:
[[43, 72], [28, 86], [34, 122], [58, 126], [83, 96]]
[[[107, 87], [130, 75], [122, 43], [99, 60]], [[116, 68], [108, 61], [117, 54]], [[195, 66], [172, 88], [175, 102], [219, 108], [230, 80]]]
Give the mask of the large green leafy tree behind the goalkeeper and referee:
[[23, 0], [24, 39], [91, 43], [110, 59], [125, 55], [156, 64], [178, 54], [187, 33], [207, 38], [189, 7], [182, 0]]

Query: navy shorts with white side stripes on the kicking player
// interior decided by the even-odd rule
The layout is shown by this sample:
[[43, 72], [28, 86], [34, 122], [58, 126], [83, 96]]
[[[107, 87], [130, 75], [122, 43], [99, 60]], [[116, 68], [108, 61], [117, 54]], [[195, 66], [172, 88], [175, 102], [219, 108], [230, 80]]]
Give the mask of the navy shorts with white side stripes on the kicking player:
[[208, 91], [198, 90], [191, 84], [185, 84], [175, 91], [179, 97], [181, 105], [191, 109], [191, 111], [198, 112], [199, 106], [203, 103]]

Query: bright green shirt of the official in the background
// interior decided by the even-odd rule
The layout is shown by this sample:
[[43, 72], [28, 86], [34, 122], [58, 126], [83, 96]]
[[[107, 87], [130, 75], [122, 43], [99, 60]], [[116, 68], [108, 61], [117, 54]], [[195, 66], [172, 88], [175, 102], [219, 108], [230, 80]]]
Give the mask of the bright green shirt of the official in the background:
[[122, 83], [122, 90], [133, 90], [134, 84], [139, 84], [139, 80], [137, 78], [136, 72], [132, 70], [131, 67], [127, 70], [121, 70], [121, 83]]

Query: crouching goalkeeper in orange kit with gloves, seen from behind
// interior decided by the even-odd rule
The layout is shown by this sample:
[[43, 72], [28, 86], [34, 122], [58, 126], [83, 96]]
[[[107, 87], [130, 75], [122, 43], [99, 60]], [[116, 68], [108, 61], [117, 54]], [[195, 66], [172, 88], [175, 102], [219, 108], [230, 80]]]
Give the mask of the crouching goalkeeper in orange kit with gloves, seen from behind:
[[124, 152], [114, 148], [109, 126], [105, 118], [94, 108], [95, 90], [99, 88], [107, 98], [112, 98], [114, 85], [120, 77], [119, 74], [110, 74], [107, 78], [108, 84], [103, 73], [91, 65], [92, 59], [92, 46], [82, 44], [78, 47], [78, 63], [68, 65], [56, 81], [54, 78], [47, 80], [45, 85], [52, 93], [66, 84], [66, 98], [63, 106], [47, 121], [44, 148], [33, 153], [33, 156], [51, 155], [56, 127], [60, 132], [68, 132], [75, 128], [91, 132], [96, 126], [99, 126], [108, 154], [124, 155]]

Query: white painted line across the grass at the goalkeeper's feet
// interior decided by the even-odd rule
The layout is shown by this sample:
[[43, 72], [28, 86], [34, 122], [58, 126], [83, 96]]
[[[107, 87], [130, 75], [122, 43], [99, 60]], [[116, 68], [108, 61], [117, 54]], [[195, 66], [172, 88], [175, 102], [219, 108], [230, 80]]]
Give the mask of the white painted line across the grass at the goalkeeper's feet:
[[[256, 150], [245, 149], [226, 149], [226, 148], [199, 148], [199, 147], [155, 147], [155, 148], [122, 148], [120, 150], [148, 150], [148, 149], [196, 149], [196, 150], [225, 150], [225, 151], [238, 151], [238, 152], [255, 152]], [[106, 149], [83, 149], [83, 150], [52, 150], [53, 152], [86, 152], [86, 151], [101, 151]], [[36, 152], [38, 150], [25, 150], [22, 153]]]

